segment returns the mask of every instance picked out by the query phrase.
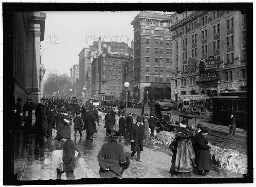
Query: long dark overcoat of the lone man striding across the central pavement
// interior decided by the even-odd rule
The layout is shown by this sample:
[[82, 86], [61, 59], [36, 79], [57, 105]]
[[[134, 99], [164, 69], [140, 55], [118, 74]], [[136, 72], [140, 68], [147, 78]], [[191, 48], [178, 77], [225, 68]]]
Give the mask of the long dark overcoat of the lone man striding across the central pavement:
[[132, 125], [130, 140], [134, 140], [134, 142], [131, 142], [131, 151], [137, 151], [139, 149], [143, 151], [144, 139], [145, 139], [145, 135], [144, 135], [143, 125], [140, 124], [140, 127], [138, 126], [137, 123]]

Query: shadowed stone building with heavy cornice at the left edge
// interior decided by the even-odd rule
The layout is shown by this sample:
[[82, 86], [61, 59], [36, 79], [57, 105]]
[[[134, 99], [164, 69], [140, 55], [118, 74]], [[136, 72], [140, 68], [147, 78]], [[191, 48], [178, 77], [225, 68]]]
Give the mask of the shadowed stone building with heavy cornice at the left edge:
[[40, 11], [13, 13], [14, 97], [22, 98], [22, 105], [27, 98], [38, 104], [43, 95], [45, 69], [41, 64], [40, 42], [44, 41], [45, 19], [46, 14]]

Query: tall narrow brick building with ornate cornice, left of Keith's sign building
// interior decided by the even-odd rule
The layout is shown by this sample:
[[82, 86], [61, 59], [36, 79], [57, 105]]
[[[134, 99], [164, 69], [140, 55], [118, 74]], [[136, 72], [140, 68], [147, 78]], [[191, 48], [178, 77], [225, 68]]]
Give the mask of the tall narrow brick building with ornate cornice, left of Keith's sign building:
[[172, 14], [141, 11], [134, 27], [134, 99], [170, 99]]

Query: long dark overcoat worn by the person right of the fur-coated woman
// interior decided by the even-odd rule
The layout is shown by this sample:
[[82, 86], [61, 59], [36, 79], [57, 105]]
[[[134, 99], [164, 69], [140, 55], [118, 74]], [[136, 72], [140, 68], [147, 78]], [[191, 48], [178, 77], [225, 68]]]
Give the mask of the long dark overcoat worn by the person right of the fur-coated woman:
[[203, 134], [198, 136], [198, 149], [196, 158], [196, 168], [198, 170], [212, 170], [211, 153], [209, 150], [208, 140]]

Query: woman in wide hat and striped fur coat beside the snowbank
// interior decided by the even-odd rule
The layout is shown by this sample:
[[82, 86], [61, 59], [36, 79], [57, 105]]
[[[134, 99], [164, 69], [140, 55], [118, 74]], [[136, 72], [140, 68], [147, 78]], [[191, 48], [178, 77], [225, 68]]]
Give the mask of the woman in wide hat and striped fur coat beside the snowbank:
[[172, 166], [170, 168], [171, 178], [192, 178], [193, 166], [195, 166], [195, 153], [193, 150], [191, 134], [179, 133], [175, 141], [170, 144], [170, 149], [174, 153], [172, 156]]

